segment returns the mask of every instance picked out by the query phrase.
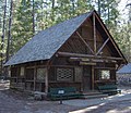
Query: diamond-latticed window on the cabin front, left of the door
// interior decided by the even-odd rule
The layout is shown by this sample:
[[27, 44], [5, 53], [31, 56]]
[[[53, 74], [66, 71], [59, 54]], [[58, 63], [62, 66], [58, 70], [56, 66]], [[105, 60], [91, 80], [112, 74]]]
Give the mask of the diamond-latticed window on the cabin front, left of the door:
[[57, 80], [72, 81], [73, 68], [57, 68]]

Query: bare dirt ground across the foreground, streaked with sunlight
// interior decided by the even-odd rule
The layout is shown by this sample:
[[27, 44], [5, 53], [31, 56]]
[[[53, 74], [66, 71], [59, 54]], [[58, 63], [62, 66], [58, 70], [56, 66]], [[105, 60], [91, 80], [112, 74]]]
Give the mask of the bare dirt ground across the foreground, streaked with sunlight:
[[[130, 87], [121, 87], [131, 93]], [[9, 81], [0, 80], [0, 113], [131, 113], [131, 98], [92, 106], [60, 104], [59, 101], [36, 101], [33, 97], [9, 89]]]

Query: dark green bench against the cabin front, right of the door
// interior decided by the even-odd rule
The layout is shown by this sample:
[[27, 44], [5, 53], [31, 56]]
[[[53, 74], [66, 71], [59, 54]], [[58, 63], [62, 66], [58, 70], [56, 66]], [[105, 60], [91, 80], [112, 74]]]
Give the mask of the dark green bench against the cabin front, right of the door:
[[121, 93], [120, 89], [117, 89], [117, 85], [98, 85], [98, 90], [103, 93], [117, 95]]

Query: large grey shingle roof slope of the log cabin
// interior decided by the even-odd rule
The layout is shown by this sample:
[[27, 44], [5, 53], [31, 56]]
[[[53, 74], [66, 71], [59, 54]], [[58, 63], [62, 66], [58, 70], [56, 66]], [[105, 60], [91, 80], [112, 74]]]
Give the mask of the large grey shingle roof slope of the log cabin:
[[5, 66], [50, 59], [90, 14], [85, 13], [38, 33], [5, 63]]

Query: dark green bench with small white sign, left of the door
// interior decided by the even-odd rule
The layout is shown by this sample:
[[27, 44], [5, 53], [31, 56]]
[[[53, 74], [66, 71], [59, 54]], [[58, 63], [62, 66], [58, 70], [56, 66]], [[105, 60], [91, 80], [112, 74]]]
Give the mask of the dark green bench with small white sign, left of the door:
[[51, 100], [66, 100], [80, 98], [82, 95], [76, 91], [75, 87], [50, 88], [48, 98]]

